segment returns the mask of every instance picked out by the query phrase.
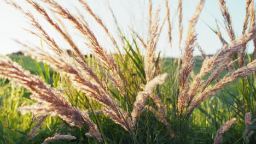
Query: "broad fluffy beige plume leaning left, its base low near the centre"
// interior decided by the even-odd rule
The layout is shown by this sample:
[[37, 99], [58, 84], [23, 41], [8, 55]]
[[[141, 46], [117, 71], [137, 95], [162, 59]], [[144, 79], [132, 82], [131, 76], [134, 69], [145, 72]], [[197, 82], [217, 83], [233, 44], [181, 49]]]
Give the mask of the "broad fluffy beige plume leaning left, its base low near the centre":
[[87, 65], [78, 59], [72, 59], [67, 54], [51, 56], [39, 49], [30, 49], [25, 55], [44, 61], [55, 70], [69, 76], [74, 88], [79, 89], [102, 104], [102, 110], [115, 123], [120, 124], [125, 130], [132, 130], [132, 123], [127, 113], [121, 110], [117, 101], [109, 94], [105, 83], [101, 82], [97, 75]]

